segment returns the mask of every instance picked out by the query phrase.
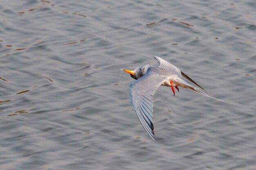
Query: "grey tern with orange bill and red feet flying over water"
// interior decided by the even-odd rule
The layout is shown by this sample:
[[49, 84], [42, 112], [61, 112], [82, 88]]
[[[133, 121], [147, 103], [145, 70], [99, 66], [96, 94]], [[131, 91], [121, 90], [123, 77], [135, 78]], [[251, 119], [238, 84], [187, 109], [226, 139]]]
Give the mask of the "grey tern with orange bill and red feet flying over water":
[[[181, 86], [198, 94], [202, 94], [210, 98], [214, 97], [206, 94], [205, 92], [209, 93], [207, 90], [198, 85], [198, 83], [195, 83], [195, 81], [171, 63], [157, 56], [154, 58], [159, 63], [158, 67], [146, 65], [137, 67], [134, 70], [124, 69], [124, 71], [137, 80], [130, 85], [130, 99], [132, 106], [135, 109], [141, 125], [144, 127], [148, 135], [155, 141], [153, 125], [153, 95], [160, 85], [171, 87], [174, 96], [174, 87], [178, 92], [180, 92], [179, 86]], [[198, 87], [194, 87], [182, 80], [182, 76]], [[205, 92], [203, 92], [203, 90]], [[220, 100], [218, 98], [214, 99]]]

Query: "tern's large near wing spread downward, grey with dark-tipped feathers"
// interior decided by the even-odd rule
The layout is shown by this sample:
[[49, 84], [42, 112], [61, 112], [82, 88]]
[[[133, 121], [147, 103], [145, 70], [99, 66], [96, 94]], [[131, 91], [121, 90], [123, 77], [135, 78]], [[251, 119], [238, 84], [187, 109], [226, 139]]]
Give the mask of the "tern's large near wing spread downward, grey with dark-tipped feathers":
[[142, 126], [155, 141], [153, 126], [153, 95], [157, 88], [169, 78], [154, 71], [149, 71], [130, 85], [132, 105]]

